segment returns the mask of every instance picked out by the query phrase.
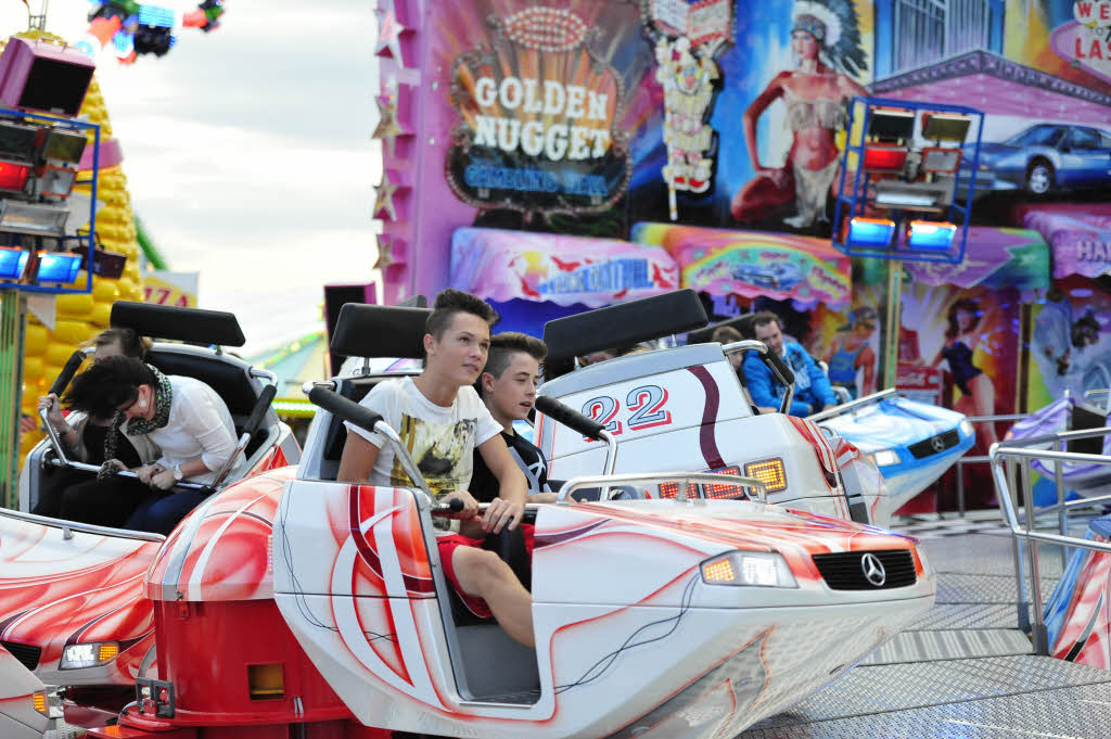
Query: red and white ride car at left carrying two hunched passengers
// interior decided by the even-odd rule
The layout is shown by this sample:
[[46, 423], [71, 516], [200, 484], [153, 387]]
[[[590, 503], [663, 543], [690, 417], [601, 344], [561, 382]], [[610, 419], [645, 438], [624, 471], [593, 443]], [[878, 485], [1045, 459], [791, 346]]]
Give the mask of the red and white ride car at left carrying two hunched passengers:
[[[270, 408], [273, 376], [220, 349], [243, 343], [233, 316], [121, 301], [112, 307], [111, 322], [140, 336], [187, 342], [157, 342], [146, 361], [167, 375], [203, 380], [228, 403], [240, 435], [236, 456], [246, 462], [230, 472], [236, 457], [229, 460], [226, 477], [211, 485], [213, 492], [242, 477], [272, 479], [281, 472], [268, 470], [288, 469], [300, 459], [289, 427]], [[83, 360], [84, 350], [74, 352], [51, 391], [61, 396]], [[50, 425], [46, 428], [50, 437], [31, 450], [20, 476], [21, 511], [0, 509], [0, 646], [48, 685], [130, 687], [156, 658], [143, 575], [166, 538], [27, 512], [44, 486], [67, 469], [90, 476], [99, 469], [68, 459]], [[276, 483], [274, 503], [280, 488]], [[202, 516], [217, 517], [221, 505], [210, 496]]]

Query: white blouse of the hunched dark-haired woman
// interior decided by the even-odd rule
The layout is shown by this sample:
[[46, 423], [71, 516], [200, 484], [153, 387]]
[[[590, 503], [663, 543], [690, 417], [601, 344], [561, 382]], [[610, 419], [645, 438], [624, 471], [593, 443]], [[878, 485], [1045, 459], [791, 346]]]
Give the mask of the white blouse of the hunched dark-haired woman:
[[[207, 485], [236, 451], [236, 425], [228, 405], [208, 385], [177, 375], [169, 376], [169, 380], [173, 389], [170, 418], [164, 427], [147, 436], [162, 450], [158, 463], [167, 469], [200, 457], [211, 471], [186, 479]], [[242, 463], [240, 457], [232, 471]]]

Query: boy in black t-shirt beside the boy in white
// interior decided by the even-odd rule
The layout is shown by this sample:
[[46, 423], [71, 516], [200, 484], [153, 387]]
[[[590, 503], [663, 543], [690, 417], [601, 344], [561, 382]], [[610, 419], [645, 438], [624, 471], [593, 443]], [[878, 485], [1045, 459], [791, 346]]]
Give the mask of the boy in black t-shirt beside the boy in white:
[[[490, 340], [490, 353], [479, 377], [479, 395], [493, 419], [502, 426], [501, 436], [509, 453], [529, 483], [530, 502], [550, 502], [556, 493], [548, 488], [548, 460], [534, 445], [513, 430], [513, 421], [528, 418], [537, 399], [540, 363], [548, 347], [526, 333], [499, 333]], [[498, 495], [498, 480], [474, 455], [471, 493], [479, 501]], [[538, 495], [540, 493], [540, 495]]]

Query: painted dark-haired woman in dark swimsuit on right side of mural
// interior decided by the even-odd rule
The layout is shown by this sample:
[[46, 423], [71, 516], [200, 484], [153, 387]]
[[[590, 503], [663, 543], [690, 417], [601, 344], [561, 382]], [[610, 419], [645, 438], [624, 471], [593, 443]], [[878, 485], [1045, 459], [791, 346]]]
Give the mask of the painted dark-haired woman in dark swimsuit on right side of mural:
[[[981, 343], [987, 344], [985, 338], [977, 333], [982, 318], [980, 302], [970, 298], [954, 300], [947, 318], [945, 343], [932, 366], [937, 367], [942, 359], [949, 362], [949, 372], [962, 393], [960, 400], [953, 403], [953, 410], [965, 416], [991, 416], [995, 412], [995, 386], [982, 369], [972, 363], [975, 350]], [[995, 425], [982, 423], [981, 436], [988, 445], [998, 441]]]

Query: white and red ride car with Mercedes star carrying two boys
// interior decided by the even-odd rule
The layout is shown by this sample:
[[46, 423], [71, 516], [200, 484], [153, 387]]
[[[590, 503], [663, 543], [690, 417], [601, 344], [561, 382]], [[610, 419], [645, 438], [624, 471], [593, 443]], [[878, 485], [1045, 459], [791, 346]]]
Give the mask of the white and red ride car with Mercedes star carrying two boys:
[[[332, 347], [416, 357], [426, 318], [347, 306]], [[681, 353], [675, 361], [691, 359]], [[714, 361], [724, 362], [720, 350]], [[136, 702], [90, 737], [733, 736], [932, 605], [933, 570], [913, 539], [768, 503], [765, 482], [692, 471], [704, 458], [678, 445], [671, 470], [599, 476], [631, 467], [621, 461], [632, 459], [629, 439], [546, 400], [549, 436], [558, 419], [570, 425], [558, 433], [600, 438], [603, 451], [590, 450], [597, 463], [579, 471], [591, 475], [568, 480], [559, 502], [528, 507], [531, 571], [518, 535], [494, 542], [531, 579], [537, 648], [494, 622], [457, 620], [432, 526], [444, 511], [397, 435], [356, 402], [384, 377], [317, 383], [309, 395], [321, 410], [296, 469], [230, 485], [154, 542], [142, 587], [158, 677], [138, 676]], [[338, 482], [343, 420], [382, 433], [413, 486]], [[782, 453], [815, 458], [820, 448], [794, 441]], [[617, 457], [607, 461], [607, 449]], [[674, 495], [663, 495], [672, 481]], [[735, 499], [705, 495], [719, 486]], [[649, 495], [608, 499], [628, 487]], [[600, 500], [572, 500], [585, 489]]]

